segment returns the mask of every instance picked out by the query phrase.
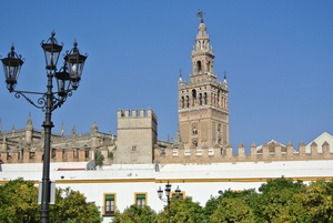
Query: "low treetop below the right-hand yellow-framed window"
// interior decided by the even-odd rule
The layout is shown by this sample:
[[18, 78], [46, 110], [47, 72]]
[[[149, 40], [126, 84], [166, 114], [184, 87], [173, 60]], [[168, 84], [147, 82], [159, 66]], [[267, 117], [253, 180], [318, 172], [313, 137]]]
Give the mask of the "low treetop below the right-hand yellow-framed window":
[[155, 223], [157, 213], [150, 206], [131, 205], [123, 213], [115, 213], [112, 223]]

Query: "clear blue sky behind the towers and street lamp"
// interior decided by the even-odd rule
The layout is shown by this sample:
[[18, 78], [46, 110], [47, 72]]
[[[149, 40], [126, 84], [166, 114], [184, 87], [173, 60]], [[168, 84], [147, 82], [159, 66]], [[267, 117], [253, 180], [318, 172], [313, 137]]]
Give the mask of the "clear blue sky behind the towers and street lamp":
[[[152, 108], [159, 139], [178, 128], [179, 69], [189, 80], [198, 9], [216, 55], [214, 71], [228, 72], [230, 141], [246, 148], [276, 140], [310, 143], [333, 134], [333, 1], [4, 1], [0, 54], [14, 43], [26, 58], [17, 90], [46, 91], [41, 40], [56, 30], [64, 49], [89, 53], [82, 82], [53, 112], [53, 132], [117, 134], [117, 110]], [[42, 129], [43, 113], [16, 99], [1, 70], [2, 131]]]

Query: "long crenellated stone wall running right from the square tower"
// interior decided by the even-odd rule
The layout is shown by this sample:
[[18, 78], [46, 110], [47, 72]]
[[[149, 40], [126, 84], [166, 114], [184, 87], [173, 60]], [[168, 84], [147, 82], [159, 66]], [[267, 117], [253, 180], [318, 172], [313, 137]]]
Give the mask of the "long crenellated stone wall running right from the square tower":
[[155, 162], [160, 163], [212, 163], [212, 162], [271, 162], [271, 161], [297, 161], [297, 160], [333, 160], [333, 146], [325, 141], [322, 145], [315, 142], [311, 143], [310, 151], [301, 142], [297, 150], [292, 143], [283, 145], [281, 143], [264, 143], [256, 146], [254, 143], [250, 146], [250, 154], [245, 153], [245, 146], [241, 143], [238, 146], [238, 154], [233, 154], [231, 145], [225, 149], [214, 148], [195, 148], [185, 149], [167, 148], [154, 149]]

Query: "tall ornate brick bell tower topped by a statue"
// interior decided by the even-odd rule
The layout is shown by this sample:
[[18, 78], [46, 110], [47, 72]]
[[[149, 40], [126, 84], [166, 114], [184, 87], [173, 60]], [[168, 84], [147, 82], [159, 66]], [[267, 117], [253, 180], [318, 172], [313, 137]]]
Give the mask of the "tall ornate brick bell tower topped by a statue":
[[183, 146], [225, 148], [229, 144], [228, 83], [214, 73], [214, 53], [210, 45], [203, 13], [198, 13], [195, 44], [191, 53], [192, 73], [186, 83], [179, 79], [179, 131]]

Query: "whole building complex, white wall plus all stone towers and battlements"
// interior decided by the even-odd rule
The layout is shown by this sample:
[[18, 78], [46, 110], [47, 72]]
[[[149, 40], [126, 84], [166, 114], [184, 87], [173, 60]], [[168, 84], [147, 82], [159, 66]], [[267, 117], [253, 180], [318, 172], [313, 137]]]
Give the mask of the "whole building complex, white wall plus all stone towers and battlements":
[[[282, 175], [305, 182], [333, 179], [333, 136], [329, 133], [307, 145], [253, 143], [250, 153], [241, 143], [233, 154], [226, 79], [219, 81], [213, 71], [205, 24], [201, 22], [198, 30], [190, 81], [179, 79], [179, 130], [173, 143], [157, 140], [158, 116], [151, 109], [118, 110], [117, 135], [99, 132], [97, 123], [89, 133], [78, 134], [73, 126], [67, 135], [62, 126], [60, 134], [51, 135], [50, 179], [95, 202], [105, 223], [131, 204], [162, 210], [157, 190], [165, 183], [204, 205], [221, 190], [258, 189]], [[43, 142], [44, 133], [33, 128], [30, 115], [21, 130], [2, 132], [0, 120], [0, 184], [24, 178], [38, 186]], [[94, 165], [97, 151], [105, 158], [102, 169]]]

